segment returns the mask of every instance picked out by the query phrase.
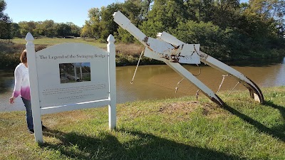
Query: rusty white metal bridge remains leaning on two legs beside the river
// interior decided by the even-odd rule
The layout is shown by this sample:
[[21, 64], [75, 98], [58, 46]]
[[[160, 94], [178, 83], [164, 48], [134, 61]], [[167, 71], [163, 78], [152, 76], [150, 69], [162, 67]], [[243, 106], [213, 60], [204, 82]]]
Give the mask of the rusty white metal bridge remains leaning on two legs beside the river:
[[170, 66], [173, 70], [179, 73], [183, 78], [192, 82], [193, 85], [199, 88], [210, 100], [217, 103], [219, 106], [225, 106], [224, 101], [216, 95], [207, 85], [204, 85], [195, 75], [192, 75], [188, 70], [182, 67], [180, 63], [185, 64], [200, 64], [201, 62], [221, 71], [224, 74], [233, 76], [238, 84], [241, 83], [249, 90], [250, 97], [254, 100], [264, 103], [264, 97], [259, 87], [249, 78], [239, 71], [234, 70], [229, 65], [213, 58], [199, 50], [199, 44], [184, 43], [175, 36], [169, 33], [157, 33], [157, 38], [145, 36], [126, 16], [120, 11], [113, 14], [114, 21], [126, 31], [131, 33], [135, 38], [145, 46], [144, 55], [148, 58], [161, 60]]

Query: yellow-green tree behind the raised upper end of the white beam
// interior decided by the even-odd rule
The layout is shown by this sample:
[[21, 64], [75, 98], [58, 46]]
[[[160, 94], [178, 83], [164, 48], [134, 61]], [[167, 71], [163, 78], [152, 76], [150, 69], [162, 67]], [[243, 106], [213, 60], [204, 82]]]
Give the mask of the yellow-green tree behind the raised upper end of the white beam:
[[[110, 34], [114, 34], [117, 41], [131, 43], [134, 41], [130, 33], [123, 31], [118, 24], [113, 21], [113, 14], [121, 11], [125, 16], [130, 18], [135, 26], [140, 26], [142, 21], [146, 19], [150, 10], [150, 4], [153, 0], [126, 0], [125, 3], [113, 3], [103, 6], [100, 9], [93, 8], [88, 11], [89, 20], [86, 21], [82, 28], [81, 36], [88, 36], [97, 39], [108, 38]], [[118, 34], [119, 33], [119, 34]]]

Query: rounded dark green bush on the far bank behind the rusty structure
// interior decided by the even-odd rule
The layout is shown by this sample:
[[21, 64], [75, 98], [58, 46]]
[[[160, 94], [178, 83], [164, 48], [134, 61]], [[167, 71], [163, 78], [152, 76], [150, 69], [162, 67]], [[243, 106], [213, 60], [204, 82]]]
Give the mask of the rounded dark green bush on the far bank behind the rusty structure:
[[[211, 22], [187, 21], [180, 23], [171, 32], [185, 43], [200, 44], [200, 50], [219, 60], [261, 58], [252, 53], [260, 54], [265, 50], [264, 46], [257, 47], [252, 38], [242, 34], [237, 28], [222, 30]], [[269, 48], [266, 51], [269, 52]], [[264, 56], [267, 55], [262, 55], [263, 58]]]

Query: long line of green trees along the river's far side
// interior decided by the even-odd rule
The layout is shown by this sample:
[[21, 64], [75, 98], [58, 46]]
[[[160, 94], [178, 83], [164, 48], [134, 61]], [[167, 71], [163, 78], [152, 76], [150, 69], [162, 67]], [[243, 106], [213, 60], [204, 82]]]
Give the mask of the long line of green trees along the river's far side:
[[223, 60], [274, 57], [285, 50], [284, 0], [125, 0], [90, 9], [83, 28], [52, 20], [18, 26], [8, 23], [14, 33], [11, 37], [31, 31], [36, 36], [78, 33], [105, 41], [113, 34], [116, 41], [135, 43], [135, 38], [113, 21], [118, 10], [147, 36], [155, 38], [158, 32], [167, 31], [185, 43], [201, 44], [204, 52]]

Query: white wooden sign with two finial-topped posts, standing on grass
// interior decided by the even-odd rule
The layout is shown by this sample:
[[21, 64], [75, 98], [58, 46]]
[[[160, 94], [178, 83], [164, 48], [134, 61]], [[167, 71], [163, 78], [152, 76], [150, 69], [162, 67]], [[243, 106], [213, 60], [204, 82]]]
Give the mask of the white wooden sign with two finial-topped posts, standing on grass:
[[109, 128], [116, 125], [115, 38], [108, 51], [83, 43], [63, 43], [35, 53], [26, 35], [33, 128], [43, 142], [41, 115], [108, 105]]

